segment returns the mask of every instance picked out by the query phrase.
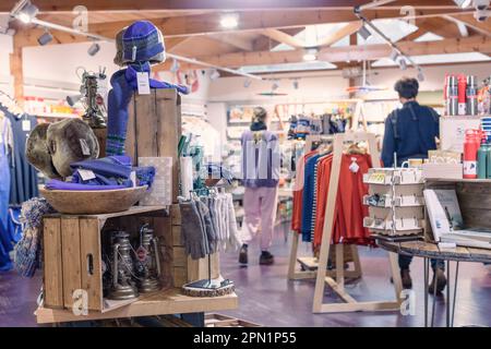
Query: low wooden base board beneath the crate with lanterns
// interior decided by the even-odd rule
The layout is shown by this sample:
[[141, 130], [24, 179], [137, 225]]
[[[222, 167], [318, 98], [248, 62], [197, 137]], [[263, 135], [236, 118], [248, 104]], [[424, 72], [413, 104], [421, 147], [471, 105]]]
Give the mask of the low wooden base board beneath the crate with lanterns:
[[239, 299], [236, 293], [213, 298], [200, 298], [183, 296], [179, 288], [172, 288], [106, 313], [88, 312], [86, 316], [77, 316], [69, 310], [39, 306], [35, 315], [38, 324], [49, 324], [103, 318], [215, 312], [232, 310], [238, 306]]

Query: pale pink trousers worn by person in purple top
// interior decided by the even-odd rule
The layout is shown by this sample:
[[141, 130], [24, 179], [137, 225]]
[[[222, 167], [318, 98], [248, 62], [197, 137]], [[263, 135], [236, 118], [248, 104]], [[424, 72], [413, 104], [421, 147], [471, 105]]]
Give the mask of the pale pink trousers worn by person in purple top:
[[250, 243], [261, 228], [261, 250], [268, 251], [273, 242], [278, 188], [246, 188], [243, 194], [244, 225], [241, 240]]

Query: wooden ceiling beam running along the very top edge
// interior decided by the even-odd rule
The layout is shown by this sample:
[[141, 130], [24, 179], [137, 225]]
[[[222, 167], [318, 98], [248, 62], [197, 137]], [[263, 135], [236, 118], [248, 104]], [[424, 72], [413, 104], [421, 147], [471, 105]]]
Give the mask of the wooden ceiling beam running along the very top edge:
[[[0, 2], [0, 12], [9, 12], [16, 0], [3, 0]], [[266, 9], [330, 9], [330, 8], [354, 8], [368, 3], [370, 0], [36, 0], [35, 4], [43, 12], [69, 11], [76, 5], [84, 4], [89, 11], [122, 11], [122, 10], [266, 10]], [[431, 4], [427, 0], [400, 0], [391, 3], [390, 7], [415, 5], [418, 8], [455, 8], [448, 0], [432, 0]]]

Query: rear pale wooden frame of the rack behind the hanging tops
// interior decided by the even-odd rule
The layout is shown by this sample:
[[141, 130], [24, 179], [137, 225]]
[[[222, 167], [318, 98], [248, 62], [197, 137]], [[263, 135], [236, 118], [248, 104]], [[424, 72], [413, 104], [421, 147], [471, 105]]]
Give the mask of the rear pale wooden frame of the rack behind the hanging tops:
[[[334, 135], [332, 134], [309, 134], [306, 139], [306, 145], [304, 145], [304, 154], [310, 152], [312, 149], [312, 145], [315, 142], [322, 142], [322, 143], [333, 143]], [[304, 256], [304, 257], [298, 257], [298, 244], [299, 244], [299, 234], [294, 232], [292, 241], [291, 241], [291, 250], [290, 250], [290, 257], [288, 263], [288, 279], [290, 280], [301, 280], [301, 279], [314, 279], [316, 277], [315, 268], [319, 267], [319, 263], [315, 257], [311, 256]], [[361, 264], [360, 264], [360, 257], [358, 254], [358, 248], [354, 244], [350, 245], [351, 249], [351, 255], [354, 260], [354, 266], [355, 268], [352, 270], [344, 270], [345, 276], [349, 278], [360, 278], [362, 276], [361, 273]], [[337, 251], [336, 251], [337, 252]], [[300, 265], [303, 268], [303, 270], [296, 270], [297, 262], [300, 263]], [[338, 264], [336, 263], [336, 266]], [[344, 268], [344, 263], [342, 264]], [[326, 276], [336, 276], [336, 270], [326, 270]]]

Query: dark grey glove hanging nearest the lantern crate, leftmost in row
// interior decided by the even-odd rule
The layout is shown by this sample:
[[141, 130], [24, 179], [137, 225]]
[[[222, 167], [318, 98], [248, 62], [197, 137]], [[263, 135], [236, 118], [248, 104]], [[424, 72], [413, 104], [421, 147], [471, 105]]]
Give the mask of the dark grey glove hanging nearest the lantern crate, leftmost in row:
[[181, 209], [181, 234], [184, 243], [185, 253], [193, 260], [204, 258], [206, 256], [203, 224], [200, 214], [193, 201], [184, 202], [179, 205]]

